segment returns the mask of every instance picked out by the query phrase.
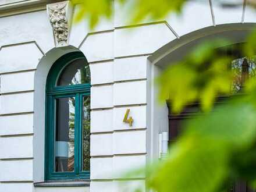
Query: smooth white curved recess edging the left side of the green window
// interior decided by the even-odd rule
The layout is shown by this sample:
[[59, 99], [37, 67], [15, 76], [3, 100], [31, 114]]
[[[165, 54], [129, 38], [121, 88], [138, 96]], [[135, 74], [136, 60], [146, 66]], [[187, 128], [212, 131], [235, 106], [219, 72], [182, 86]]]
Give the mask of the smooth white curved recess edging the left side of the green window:
[[79, 51], [68, 46], [53, 48], [42, 57], [34, 76], [34, 138], [33, 138], [33, 180], [44, 182], [44, 146], [45, 146], [45, 85], [48, 72], [54, 62], [61, 56]]

